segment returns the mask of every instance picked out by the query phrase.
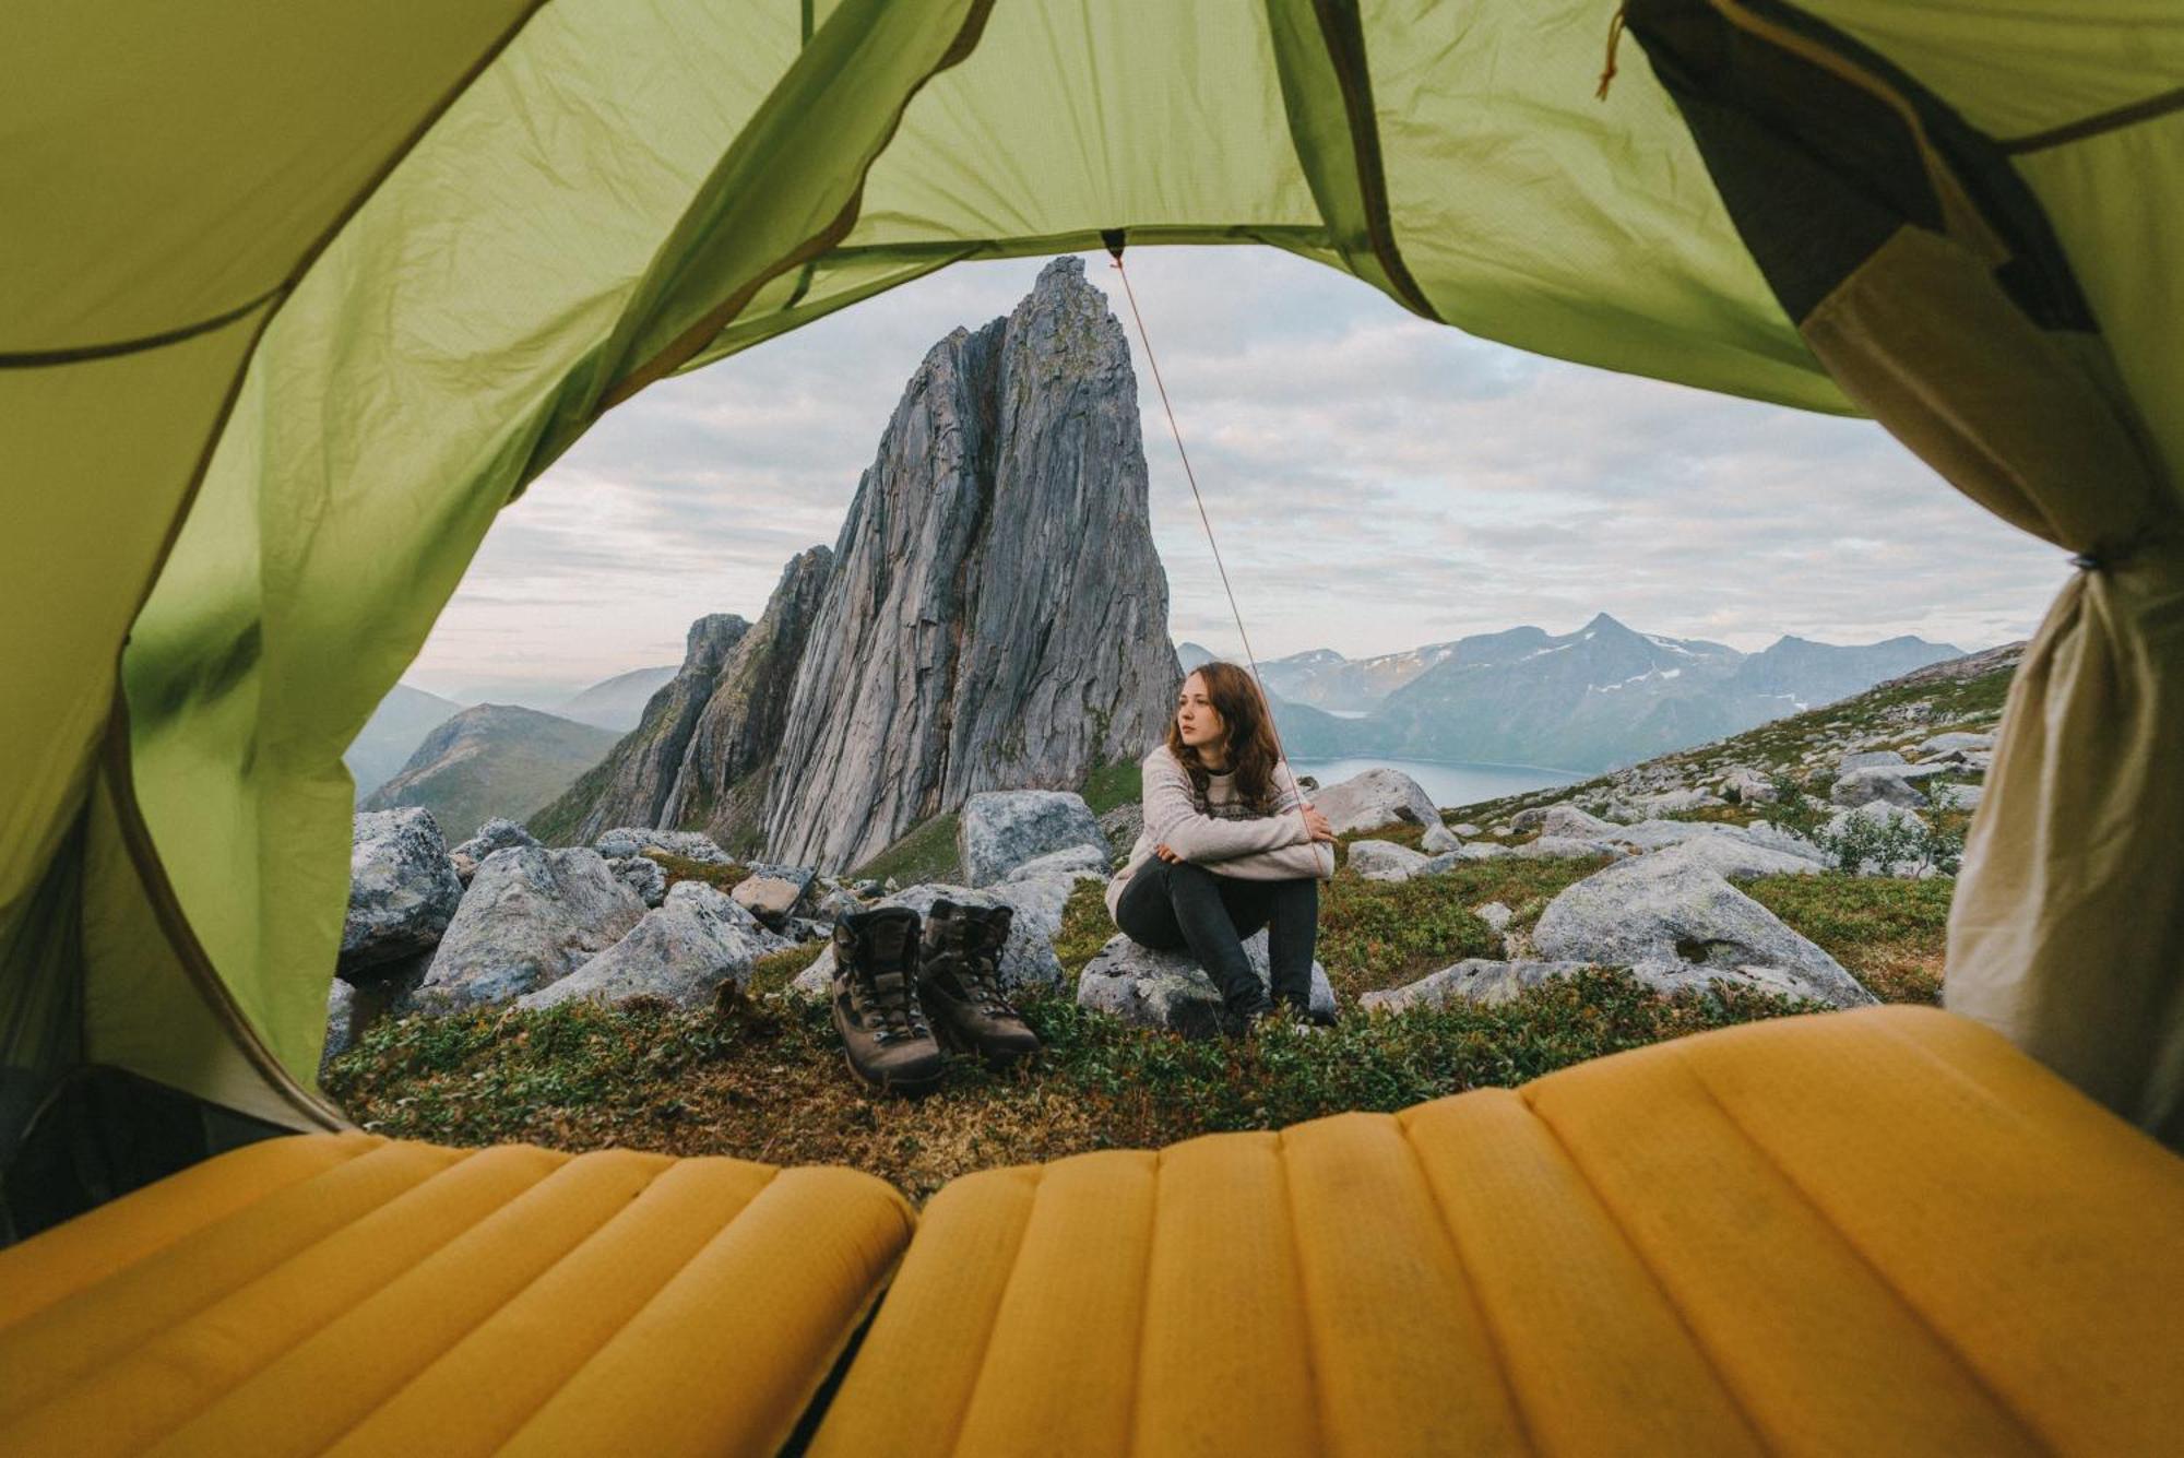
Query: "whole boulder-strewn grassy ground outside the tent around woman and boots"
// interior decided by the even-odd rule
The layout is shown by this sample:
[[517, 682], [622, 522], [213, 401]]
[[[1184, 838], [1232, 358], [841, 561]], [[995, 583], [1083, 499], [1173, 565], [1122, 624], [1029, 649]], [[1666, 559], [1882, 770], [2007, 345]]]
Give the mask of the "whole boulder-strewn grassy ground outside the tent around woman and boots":
[[[1435, 808], [1389, 770], [1317, 790], [1326, 1032], [1212, 1028], [1186, 958], [1114, 936], [1136, 834], [1064, 792], [972, 797], [968, 884], [740, 864], [688, 832], [546, 849], [509, 823], [448, 849], [358, 816], [328, 1089], [369, 1126], [843, 1161], [913, 1192], [1081, 1148], [1396, 1109], [1697, 1028], [1933, 1000], [1955, 858], [2011, 655], [1981, 655], [1581, 786]], [[1944, 672], [1950, 670], [1950, 672]], [[841, 1072], [826, 930], [852, 908], [1009, 904], [1005, 980], [1048, 1052], [968, 1061], [922, 1102]]]

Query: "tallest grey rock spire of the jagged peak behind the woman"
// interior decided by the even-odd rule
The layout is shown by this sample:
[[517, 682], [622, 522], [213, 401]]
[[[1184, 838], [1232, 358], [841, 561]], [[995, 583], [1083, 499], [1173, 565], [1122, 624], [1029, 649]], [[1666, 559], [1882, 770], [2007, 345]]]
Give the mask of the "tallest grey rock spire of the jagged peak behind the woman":
[[1055, 260], [935, 345], [887, 423], [795, 677], [769, 853], [852, 867], [978, 790], [1142, 755], [1166, 629], [1129, 347]]

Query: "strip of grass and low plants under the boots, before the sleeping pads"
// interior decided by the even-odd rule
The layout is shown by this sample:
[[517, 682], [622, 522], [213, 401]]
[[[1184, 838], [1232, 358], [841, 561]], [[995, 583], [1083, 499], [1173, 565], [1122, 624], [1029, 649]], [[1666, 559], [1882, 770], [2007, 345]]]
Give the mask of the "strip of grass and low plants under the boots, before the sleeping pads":
[[937, 1094], [904, 1102], [850, 1080], [823, 1006], [568, 1002], [380, 1024], [334, 1061], [328, 1091], [397, 1137], [847, 1163], [922, 1200], [989, 1166], [1393, 1111], [1795, 1011], [1749, 993], [1655, 997], [1627, 973], [1599, 971], [1498, 1008], [1188, 1043], [1042, 995], [1024, 1006], [1046, 1043], [1040, 1059], [1005, 1076], [950, 1059]]

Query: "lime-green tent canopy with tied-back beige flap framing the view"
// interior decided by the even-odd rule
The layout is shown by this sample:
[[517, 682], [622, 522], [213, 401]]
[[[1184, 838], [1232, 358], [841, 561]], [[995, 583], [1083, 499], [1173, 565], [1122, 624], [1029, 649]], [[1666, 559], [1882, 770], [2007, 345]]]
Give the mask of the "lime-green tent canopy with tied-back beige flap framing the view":
[[334, 1124], [341, 751], [494, 513], [666, 373], [1103, 229], [1863, 410], [2079, 554], [1948, 1000], [2184, 1142], [2175, 0], [114, 0], [0, 79], [0, 1157], [83, 1065]]

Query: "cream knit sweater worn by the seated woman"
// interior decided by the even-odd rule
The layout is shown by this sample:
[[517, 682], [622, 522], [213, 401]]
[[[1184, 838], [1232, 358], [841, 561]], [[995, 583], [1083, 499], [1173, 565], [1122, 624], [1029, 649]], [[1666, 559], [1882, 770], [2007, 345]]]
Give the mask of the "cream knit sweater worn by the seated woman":
[[1275, 766], [1273, 788], [1273, 814], [1232, 818], [1238, 805], [1234, 777], [1212, 775], [1206, 781], [1206, 803], [1214, 814], [1201, 814], [1190, 792], [1190, 775], [1166, 744], [1153, 746], [1144, 757], [1144, 832], [1129, 849], [1129, 864], [1107, 882], [1107, 915], [1114, 915], [1138, 867], [1153, 858], [1155, 845], [1166, 845], [1214, 875], [1247, 882], [1286, 882], [1304, 875], [1330, 880], [1334, 847], [1313, 840], [1304, 827], [1304, 816], [1297, 814], [1297, 784], [1289, 777], [1286, 764]]

